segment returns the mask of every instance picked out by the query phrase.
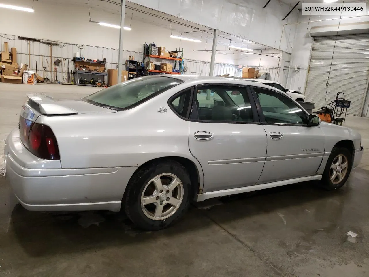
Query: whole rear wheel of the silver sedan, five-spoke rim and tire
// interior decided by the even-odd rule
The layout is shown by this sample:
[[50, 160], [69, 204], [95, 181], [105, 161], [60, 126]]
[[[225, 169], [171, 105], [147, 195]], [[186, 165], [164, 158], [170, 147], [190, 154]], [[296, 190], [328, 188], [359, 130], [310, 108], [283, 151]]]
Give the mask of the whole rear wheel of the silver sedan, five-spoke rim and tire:
[[125, 212], [141, 229], [164, 229], [187, 211], [190, 186], [189, 174], [182, 164], [153, 163], [131, 178], [122, 200]]

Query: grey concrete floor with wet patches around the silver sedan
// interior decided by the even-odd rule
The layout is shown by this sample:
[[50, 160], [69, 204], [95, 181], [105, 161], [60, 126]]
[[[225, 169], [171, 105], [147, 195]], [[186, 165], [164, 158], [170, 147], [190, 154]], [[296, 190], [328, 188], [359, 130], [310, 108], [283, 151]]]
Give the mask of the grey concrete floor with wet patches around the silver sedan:
[[[1, 162], [30, 91], [80, 98], [96, 88], [0, 83]], [[345, 126], [369, 145], [368, 119]], [[159, 232], [112, 212], [26, 211], [0, 164], [0, 276], [369, 276], [368, 157], [339, 191], [308, 182], [212, 199]]]

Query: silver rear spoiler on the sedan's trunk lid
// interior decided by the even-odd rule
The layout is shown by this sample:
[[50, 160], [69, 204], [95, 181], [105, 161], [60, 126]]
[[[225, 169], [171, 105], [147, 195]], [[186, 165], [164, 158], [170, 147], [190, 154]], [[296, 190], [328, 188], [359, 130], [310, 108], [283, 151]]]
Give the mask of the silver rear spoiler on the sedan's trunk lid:
[[[27, 93], [26, 96], [30, 101], [39, 106], [41, 114], [76, 114], [77, 111], [59, 105], [51, 96], [42, 93]], [[29, 101], [28, 101], [29, 102]]]

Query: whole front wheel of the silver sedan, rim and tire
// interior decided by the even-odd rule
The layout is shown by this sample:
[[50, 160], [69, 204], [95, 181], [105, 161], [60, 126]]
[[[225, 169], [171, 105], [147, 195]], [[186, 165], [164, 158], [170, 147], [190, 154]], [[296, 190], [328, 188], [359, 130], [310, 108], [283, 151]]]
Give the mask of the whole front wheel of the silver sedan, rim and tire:
[[352, 154], [347, 148], [334, 147], [322, 176], [322, 186], [328, 190], [341, 188], [347, 181], [352, 167]]

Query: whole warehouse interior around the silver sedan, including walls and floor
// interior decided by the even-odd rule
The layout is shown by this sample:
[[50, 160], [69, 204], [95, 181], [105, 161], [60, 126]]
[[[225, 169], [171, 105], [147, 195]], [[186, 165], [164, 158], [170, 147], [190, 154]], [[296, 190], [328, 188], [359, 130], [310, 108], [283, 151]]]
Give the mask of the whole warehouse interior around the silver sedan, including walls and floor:
[[[0, 0], [0, 276], [368, 276], [369, 1], [301, 14], [323, 2]], [[208, 199], [157, 232], [122, 213], [18, 204], [4, 144], [27, 93], [81, 99], [167, 74], [279, 83], [358, 131], [361, 163], [339, 191], [311, 181]]]

